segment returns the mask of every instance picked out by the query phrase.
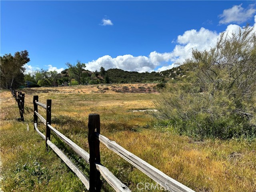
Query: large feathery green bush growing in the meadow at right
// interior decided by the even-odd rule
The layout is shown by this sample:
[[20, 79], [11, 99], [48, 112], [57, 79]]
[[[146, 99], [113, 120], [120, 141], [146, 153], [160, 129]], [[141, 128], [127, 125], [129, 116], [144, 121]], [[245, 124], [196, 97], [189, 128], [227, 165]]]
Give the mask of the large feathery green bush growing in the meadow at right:
[[196, 138], [256, 135], [256, 37], [253, 28], [222, 34], [209, 51], [194, 50], [183, 64], [188, 78], [169, 83], [158, 118]]

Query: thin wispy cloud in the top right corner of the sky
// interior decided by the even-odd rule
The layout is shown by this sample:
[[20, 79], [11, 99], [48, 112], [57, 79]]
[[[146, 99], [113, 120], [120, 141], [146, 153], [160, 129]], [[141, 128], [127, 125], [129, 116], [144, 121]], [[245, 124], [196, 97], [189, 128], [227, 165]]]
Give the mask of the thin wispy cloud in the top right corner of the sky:
[[228, 23], [243, 23], [250, 19], [256, 9], [254, 5], [250, 5], [248, 8], [242, 8], [242, 4], [234, 5], [230, 9], [225, 9], [222, 14], [219, 15], [221, 18], [219, 24], [228, 24]]

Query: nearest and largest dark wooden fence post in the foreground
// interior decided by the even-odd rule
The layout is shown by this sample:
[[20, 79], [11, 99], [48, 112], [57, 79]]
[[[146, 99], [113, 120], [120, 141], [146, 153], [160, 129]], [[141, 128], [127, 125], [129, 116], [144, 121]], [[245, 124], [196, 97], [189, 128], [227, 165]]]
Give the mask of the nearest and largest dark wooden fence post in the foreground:
[[96, 139], [96, 132], [100, 134], [100, 115], [89, 114], [88, 119], [88, 143], [90, 150], [90, 174], [89, 174], [89, 192], [100, 192], [102, 181], [100, 172], [96, 169], [95, 162], [100, 163], [100, 141]]

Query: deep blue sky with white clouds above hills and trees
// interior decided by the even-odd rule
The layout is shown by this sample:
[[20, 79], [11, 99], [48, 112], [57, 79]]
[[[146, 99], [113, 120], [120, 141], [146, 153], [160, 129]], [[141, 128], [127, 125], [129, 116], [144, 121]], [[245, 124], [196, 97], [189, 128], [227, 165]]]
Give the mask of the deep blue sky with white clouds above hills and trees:
[[27, 72], [77, 60], [88, 70], [166, 70], [256, 22], [255, 1], [1, 0], [0, 9], [0, 54], [28, 50]]

